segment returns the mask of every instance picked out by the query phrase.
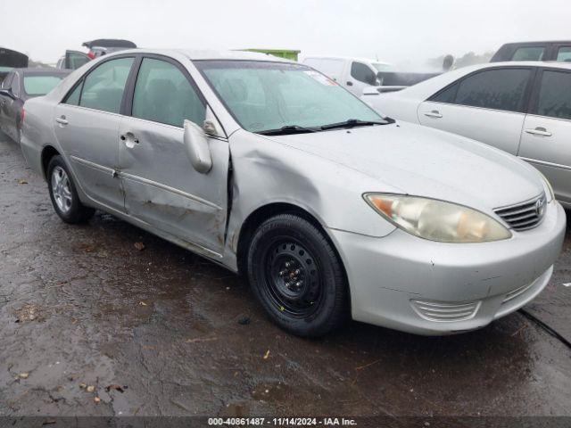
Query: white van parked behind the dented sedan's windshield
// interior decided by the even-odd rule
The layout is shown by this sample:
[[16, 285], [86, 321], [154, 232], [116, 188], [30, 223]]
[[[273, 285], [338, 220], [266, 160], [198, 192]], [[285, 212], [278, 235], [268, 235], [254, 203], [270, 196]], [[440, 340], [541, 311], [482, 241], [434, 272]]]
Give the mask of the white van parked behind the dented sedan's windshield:
[[393, 71], [393, 64], [368, 58], [346, 58], [339, 56], [308, 56], [303, 61], [315, 70], [349, 89], [354, 95], [363, 95], [367, 86], [379, 86], [379, 71]]

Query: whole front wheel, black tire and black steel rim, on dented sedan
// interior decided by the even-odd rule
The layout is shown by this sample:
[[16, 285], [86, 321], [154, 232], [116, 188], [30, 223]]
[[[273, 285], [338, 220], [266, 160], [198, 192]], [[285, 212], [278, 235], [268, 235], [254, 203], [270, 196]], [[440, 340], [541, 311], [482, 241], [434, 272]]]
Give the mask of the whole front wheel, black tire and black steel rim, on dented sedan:
[[252, 291], [277, 325], [305, 337], [343, 323], [347, 284], [335, 249], [318, 227], [294, 214], [255, 231], [247, 258]]

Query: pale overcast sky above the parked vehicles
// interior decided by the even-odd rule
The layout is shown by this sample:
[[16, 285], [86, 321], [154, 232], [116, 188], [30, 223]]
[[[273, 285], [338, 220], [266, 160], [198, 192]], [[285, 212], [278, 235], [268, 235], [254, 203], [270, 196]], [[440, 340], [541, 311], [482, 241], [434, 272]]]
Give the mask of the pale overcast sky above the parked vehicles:
[[139, 47], [289, 48], [395, 63], [571, 39], [569, 0], [23, 0], [12, 11], [0, 23], [0, 45], [44, 62], [103, 37]]

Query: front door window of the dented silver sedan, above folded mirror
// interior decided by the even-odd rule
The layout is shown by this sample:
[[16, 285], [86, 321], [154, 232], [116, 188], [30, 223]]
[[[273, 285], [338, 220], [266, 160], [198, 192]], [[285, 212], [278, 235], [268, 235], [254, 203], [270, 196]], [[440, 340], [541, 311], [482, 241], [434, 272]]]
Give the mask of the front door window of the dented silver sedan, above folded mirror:
[[182, 128], [185, 119], [202, 125], [206, 107], [178, 67], [145, 58], [137, 77], [132, 115]]

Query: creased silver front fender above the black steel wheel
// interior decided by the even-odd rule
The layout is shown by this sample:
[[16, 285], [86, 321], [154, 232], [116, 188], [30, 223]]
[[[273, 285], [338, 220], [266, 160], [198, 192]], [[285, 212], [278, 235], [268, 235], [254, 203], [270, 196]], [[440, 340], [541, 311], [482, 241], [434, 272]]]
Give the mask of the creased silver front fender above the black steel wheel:
[[244, 219], [272, 202], [286, 202], [307, 210], [322, 226], [358, 234], [385, 236], [394, 226], [380, 218], [363, 200], [371, 188], [395, 192], [353, 169], [293, 149], [245, 131], [230, 137], [233, 165], [233, 203], [228, 227], [230, 254], [236, 253]]

